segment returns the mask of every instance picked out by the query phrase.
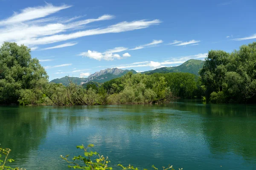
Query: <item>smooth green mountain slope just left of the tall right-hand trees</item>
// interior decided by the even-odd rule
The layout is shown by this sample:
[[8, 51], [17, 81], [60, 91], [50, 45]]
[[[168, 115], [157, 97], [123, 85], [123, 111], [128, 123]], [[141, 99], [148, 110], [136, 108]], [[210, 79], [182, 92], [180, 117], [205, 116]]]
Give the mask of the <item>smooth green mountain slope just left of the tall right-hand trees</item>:
[[157, 68], [151, 71], [145, 71], [144, 74], [153, 74], [153, 73], [173, 73], [173, 72], [183, 72], [183, 73], [192, 73], [198, 75], [198, 71], [203, 67], [204, 61], [198, 59], [189, 59], [183, 64], [176, 67], [163, 67]]

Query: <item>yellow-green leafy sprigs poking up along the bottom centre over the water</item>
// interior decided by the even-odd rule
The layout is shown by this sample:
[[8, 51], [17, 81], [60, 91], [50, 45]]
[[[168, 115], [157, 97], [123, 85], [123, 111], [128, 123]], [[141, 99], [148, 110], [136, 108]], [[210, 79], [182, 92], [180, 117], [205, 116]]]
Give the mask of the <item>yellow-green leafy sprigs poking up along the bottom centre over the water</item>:
[[[108, 160], [108, 156], [104, 157], [103, 155], [99, 155], [99, 153], [97, 152], [93, 152], [93, 151], [88, 151], [89, 148], [92, 148], [94, 145], [93, 144], [89, 144], [87, 147], [84, 147], [84, 145], [79, 145], [76, 146], [76, 148], [84, 150], [84, 156], [74, 156], [72, 158], [73, 161], [69, 161], [67, 156], [62, 156], [61, 158], [64, 159], [65, 161], [67, 161], [69, 164], [68, 165], [69, 168], [74, 168], [74, 169], [81, 169], [81, 170], [112, 170], [112, 167], [108, 166], [108, 163], [110, 163], [110, 161]], [[93, 156], [97, 156], [96, 159], [92, 159]], [[117, 166], [121, 167], [122, 170], [139, 170], [137, 167], [133, 167], [129, 164], [128, 167], [124, 167], [122, 164], [118, 164]], [[154, 170], [158, 170], [154, 165], [152, 165], [152, 168], [154, 168]], [[143, 170], [147, 170], [147, 169], [143, 169]], [[163, 167], [163, 170], [174, 170], [172, 166], [168, 166], [168, 167]], [[182, 168], [179, 170], [182, 170]]]

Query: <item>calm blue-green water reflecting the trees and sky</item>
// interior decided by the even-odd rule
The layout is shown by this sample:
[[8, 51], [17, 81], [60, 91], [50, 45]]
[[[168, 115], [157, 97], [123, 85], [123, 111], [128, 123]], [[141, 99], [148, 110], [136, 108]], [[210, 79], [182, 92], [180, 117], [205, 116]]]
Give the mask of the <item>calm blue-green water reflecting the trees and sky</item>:
[[59, 156], [83, 154], [79, 144], [114, 169], [256, 170], [256, 105], [1, 106], [0, 144], [27, 170], [68, 169]]

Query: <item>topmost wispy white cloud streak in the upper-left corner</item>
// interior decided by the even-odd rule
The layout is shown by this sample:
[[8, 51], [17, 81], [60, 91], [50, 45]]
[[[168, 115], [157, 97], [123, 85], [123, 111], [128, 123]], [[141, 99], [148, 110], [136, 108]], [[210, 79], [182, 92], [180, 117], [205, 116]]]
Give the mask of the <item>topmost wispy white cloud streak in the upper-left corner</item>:
[[63, 5], [63, 6], [53, 6], [52, 4], [47, 3], [46, 6], [38, 6], [38, 7], [28, 7], [21, 12], [15, 13], [12, 17], [7, 18], [6, 20], [0, 21], [0, 25], [9, 25], [15, 23], [21, 23], [24, 21], [34, 20], [42, 17], [46, 17], [49, 14], [53, 14], [62, 9], [70, 8], [71, 6]]

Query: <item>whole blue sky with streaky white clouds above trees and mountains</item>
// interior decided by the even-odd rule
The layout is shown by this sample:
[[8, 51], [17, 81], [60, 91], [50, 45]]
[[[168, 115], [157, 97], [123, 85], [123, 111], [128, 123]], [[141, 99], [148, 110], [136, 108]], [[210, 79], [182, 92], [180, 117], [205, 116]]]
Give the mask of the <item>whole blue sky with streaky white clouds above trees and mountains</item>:
[[0, 44], [24, 44], [49, 80], [137, 72], [256, 41], [255, 0], [0, 0]]

